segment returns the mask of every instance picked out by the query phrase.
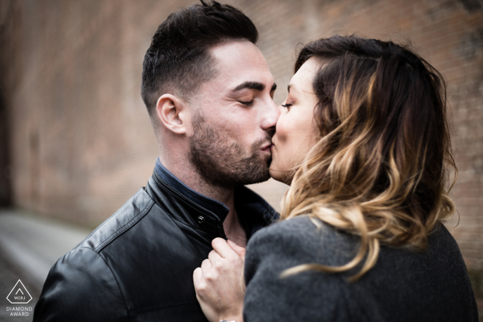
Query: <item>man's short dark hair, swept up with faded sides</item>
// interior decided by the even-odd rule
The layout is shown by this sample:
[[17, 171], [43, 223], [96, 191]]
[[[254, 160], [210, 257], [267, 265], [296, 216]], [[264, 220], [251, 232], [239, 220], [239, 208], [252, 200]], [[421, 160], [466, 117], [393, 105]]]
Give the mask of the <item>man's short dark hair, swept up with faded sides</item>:
[[214, 76], [210, 48], [230, 41], [257, 43], [257, 39], [257, 28], [242, 11], [216, 1], [201, 0], [170, 14], [144, 56], [141, 96], [150, 117], [155, 117], [162, 94], [184, 97]]

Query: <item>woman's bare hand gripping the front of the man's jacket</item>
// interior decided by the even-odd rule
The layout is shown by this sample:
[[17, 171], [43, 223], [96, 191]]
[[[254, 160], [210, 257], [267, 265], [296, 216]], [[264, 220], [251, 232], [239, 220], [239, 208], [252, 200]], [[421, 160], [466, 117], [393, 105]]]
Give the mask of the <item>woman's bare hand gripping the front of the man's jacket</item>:
[[213, 250], [201, 268], [193, 272], [196, 297], [210, 322], [243, 321], [245, 248], [221, 238], [211, 242]]

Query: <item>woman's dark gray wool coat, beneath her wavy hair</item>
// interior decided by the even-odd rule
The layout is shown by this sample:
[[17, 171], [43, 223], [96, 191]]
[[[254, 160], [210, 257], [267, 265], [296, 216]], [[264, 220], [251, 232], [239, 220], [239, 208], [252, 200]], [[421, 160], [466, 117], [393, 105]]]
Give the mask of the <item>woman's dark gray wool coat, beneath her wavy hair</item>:
[[[245, 262], [244, 322], [478, 321], [475, 296], [455, 239], [442, 224], [424, 252], [382, 246], [374, 268], [350, 283], [344, 274], [279, 274], [304, 263], [342, 265], [357, 238], [308, 216], [253, 235]], [[360, 267], [359, 267], [360, 268]]]

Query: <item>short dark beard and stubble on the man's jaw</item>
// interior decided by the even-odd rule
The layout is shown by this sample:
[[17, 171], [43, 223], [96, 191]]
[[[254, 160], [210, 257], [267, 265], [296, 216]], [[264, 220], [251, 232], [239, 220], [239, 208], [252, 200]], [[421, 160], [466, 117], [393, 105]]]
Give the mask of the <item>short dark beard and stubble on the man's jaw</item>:
[[270, 143], [265, 139], [253, 143], [250, 155], [239, 143], [230, 143], [206, 123], [201, 115], [193, 119], [194, 134], [190, 137], [190, 161], [207, 183], [231, 188], [266, 181], [270, 178], [268, 167], [271, 157], [262, 157], [262, 145]]

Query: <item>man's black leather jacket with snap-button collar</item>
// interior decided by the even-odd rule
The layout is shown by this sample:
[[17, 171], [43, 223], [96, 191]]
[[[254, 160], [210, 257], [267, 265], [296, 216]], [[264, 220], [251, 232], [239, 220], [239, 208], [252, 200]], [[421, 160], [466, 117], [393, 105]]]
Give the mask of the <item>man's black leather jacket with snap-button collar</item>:
[[[249, 238], [277, 219], [255, 192], [235, 190]], [[226, 214], [225, 214], [226, 217]], [[223, 218], [156, 174], [50, 270], [34, 321], [206, 321], [193, 270], [226, 238]]]

